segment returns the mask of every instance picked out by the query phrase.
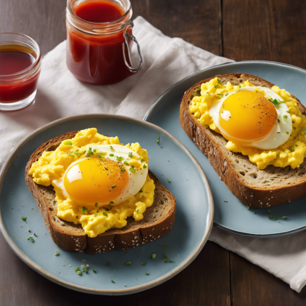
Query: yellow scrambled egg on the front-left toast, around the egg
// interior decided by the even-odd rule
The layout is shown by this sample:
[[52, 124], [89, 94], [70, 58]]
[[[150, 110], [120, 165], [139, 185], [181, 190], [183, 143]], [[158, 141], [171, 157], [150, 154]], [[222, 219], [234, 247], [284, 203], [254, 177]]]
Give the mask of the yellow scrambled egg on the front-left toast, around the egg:
[[[146, 208], [150, 207], [154, 201], [155, 190], [154, 181], [147, 175], [141, 190], [119, 203], [119, 205], [115, 205], [111, 201], [109, 205], [103, 207], [97, 207], [97, 203], [94, 204], [95, 206], [83, 206], [71, 197], [66, 197], [63, 194], [63, 189], [56, 182], [63, 179], [66, 169], [72, 162], [82, 159], [88, 154], [86, 153], [88, 152], [88, 145], [92, 146], [93, 144], [122, 145], [118, 137], [100, 135], [96, 129], [83, 130], [75, 135], [74, 138], [62, 141], [56, 150], [44, 151], [39, 160], [33, 163], [29, 172], [33, 176], [35, 183], [43, 186], [50, 186], [51, 184], [54, 186], [55, 200], [58, 203], [57, 216], [74, 224], [82, 224], [85, 233], [91, 238], [104, 233], [110, 228], [125, 226], [127, 217], [132, 216], [136, 221], [142, 220]], [[129, 167], [133, 167], [136, 170], [147, 167], [147, 151], [142, 149], [139, 143], [129, 143], [125, 147], [140, 156], [140, 158], [133, 156], [133, 158], [129, 159]], [[105, 155], [105, 152], [91, 151], [91, 158], [101, 158], [101, 156]], [[120, 163], [121, 166], [122, 163]]]

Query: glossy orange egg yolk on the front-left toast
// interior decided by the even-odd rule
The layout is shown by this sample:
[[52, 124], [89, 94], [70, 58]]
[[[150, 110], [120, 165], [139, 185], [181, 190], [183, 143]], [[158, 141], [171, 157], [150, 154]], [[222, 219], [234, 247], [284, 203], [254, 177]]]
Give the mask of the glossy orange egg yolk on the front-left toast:
[[123, 193], [129, 173], [113, 160], [86, 158], [70, 166], [64, 176], [69, 197], [85, 203], [107, 203]]

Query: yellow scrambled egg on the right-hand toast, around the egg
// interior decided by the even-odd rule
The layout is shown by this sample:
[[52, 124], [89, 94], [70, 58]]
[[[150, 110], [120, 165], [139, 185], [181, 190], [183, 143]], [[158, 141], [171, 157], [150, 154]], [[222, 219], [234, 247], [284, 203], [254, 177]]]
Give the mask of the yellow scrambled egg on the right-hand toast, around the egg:
[[[236, 86], [227, 82], [222, 85], [218, 78], [214, 78], [201, 85], [200, 92], [194, 96], [189, 111], [205, 127], [220, 133], [212, 116], [209, 113], [210, 107], [216, 100], [219, 100], [227, 92], [238, 90], [241, 87], [254, 86], [248, 81]], [[265, 169], [268, 165], [275, 167], [298, 168], [306, 156], [306, 117], [302, 115], [297, 106], [297, 100], [292, 98], [290, 93], [285, 89], [279, 89], [277, 86], [271, 88], [277, 93], [288, 106], [292, 120], [292, 131], [290, 138], [282, 145], [275, 149], [258, 149], [253, 147], [243, 147], [228, 141], [226, 148], [233, 152], [240, 152], [247, 155], [249, 160], [256, 164], [259, 169]], [[260, 90], [258, 89], [259, 93]]]

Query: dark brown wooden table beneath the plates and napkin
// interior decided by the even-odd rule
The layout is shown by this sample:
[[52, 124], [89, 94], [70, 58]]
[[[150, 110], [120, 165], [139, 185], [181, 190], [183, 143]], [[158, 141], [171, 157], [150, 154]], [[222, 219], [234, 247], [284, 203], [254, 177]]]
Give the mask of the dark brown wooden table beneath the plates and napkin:
[[[269, 60], [306, 69], [306, 2], [294, 0], [131, 0], [170, 37], [216, 55]], [[66, 38], [65, 0], [0, 0], [0, 32], [33, 37], [42, 54]], [[2, 148], [4, 149], [4, 148]], [[305, 305], [301, 293], [237, 254], [208, 242], [196, 260], [166, 283], [129, 296], [78, 293], [25, 265], [0, 235], [0, 304], [9, 305]]]

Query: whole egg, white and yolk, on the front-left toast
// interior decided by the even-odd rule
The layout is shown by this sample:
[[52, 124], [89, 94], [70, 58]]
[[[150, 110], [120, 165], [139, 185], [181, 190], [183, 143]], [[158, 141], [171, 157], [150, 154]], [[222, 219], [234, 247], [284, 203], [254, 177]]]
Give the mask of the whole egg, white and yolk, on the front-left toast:
[[[94, 157], [90, 152], [95, 152]], [[60, 188], [65, 198], [89, 209], [119, 205], [137, 194], [146, 181], [146, 163], [123, 145], [88, 145], [86, 156], [71, 163], [52, 185]]]

